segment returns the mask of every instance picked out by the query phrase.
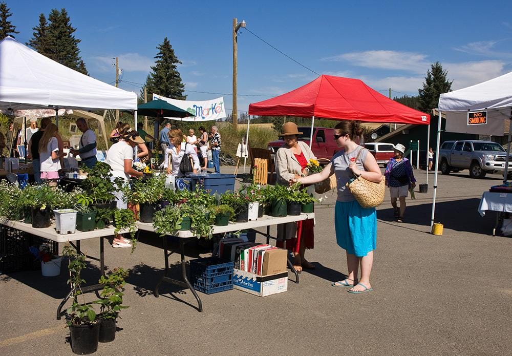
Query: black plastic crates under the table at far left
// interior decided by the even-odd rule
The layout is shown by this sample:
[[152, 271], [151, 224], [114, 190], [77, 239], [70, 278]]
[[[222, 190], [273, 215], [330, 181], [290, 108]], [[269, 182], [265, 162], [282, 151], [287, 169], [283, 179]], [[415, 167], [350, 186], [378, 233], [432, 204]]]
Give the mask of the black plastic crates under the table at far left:
[[30, 246], [47, 244], [50, 253], [58, 255], [58, 243], [0, 225], [0, 272], [10, 273], [41, 269], [41, 263], [29, 252]]

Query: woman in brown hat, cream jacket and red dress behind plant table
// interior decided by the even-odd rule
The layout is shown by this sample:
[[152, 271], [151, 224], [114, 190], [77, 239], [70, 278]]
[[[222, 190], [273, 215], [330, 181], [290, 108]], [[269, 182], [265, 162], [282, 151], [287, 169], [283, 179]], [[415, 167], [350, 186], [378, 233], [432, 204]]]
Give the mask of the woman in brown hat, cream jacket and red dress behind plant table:
[[[285, 144], [275, 154], [275, 172], [278, 176], [278, 184], [288, 185], [291, 179], [301, 178], [307, 175], [310, 160], [316, 160], [309, 146], [298, 141], [297, 125], [287, 122], [283, 125], [283, 140]], [[315, 266], [308, 262], [304, 256], [306, 249], [314, 247], [314, 221], [304, 220], [297, 223], [288, 223], [278, 226], [278, 246], [293, 250], [295, 261], [293, 268], [301, 273], [303, 268], [314, 269]], [[296, 231], [296, 233], [295, 233]]]

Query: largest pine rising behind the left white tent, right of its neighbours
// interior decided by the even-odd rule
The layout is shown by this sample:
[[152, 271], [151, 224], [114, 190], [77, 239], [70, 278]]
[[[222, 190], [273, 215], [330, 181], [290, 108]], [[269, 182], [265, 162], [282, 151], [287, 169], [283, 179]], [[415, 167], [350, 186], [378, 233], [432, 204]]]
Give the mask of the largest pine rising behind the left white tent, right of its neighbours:
[[[39, 17], [39, 24], [40, 20]], [[80, 49], [78, 48], [80, 39], [73, 35], [76, 28], [71, 25], [66, 9], [60, 11], [53, 9], [48, 16], [48, 20], [49, 24], [45, 35], [48, 41], [48, 51], [42, 54], [66, 67], [88, 74], [86, 65], [80, 57]], [[34, 43], [32, 46], [38, 46], [38, 44]]]

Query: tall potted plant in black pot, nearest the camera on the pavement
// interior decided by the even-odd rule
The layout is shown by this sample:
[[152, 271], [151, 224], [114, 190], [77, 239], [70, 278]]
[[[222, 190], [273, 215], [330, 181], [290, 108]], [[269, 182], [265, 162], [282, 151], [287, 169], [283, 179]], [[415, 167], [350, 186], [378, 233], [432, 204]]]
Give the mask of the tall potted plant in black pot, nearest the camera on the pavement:
[[[98, 349], [99, 327], [93, 304], [86, 303], [81, 285], [85, 281], [80, 277], [81, 270], [86, 266], [86, 257], [77, 253], [70, 244], [62, 248], [62, 254], [69, 258], [69, 284], [73, 296], [73, 304], [66, 311], [66, 320], [71, 333], [71, 349], [77, 354], [89, 354]], [[78, 299], [82, 299], [82, 303]]]

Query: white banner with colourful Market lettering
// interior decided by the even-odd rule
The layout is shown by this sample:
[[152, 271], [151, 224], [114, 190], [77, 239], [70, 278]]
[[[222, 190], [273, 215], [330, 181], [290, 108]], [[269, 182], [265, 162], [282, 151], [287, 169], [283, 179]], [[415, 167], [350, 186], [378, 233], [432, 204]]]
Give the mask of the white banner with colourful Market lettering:
[[226, 108], [224, 107], [224, 97], [205, 101], [177, 100], [166, 98], [158, 94], [153, 94], [153, 100], [162, 99], [169, 104], [173, 104], [180, 109], [188, 111], [194, 116], [189, 117], [166, 117], [167, 119], [180, 121], [211, 121], [225, 118]]

